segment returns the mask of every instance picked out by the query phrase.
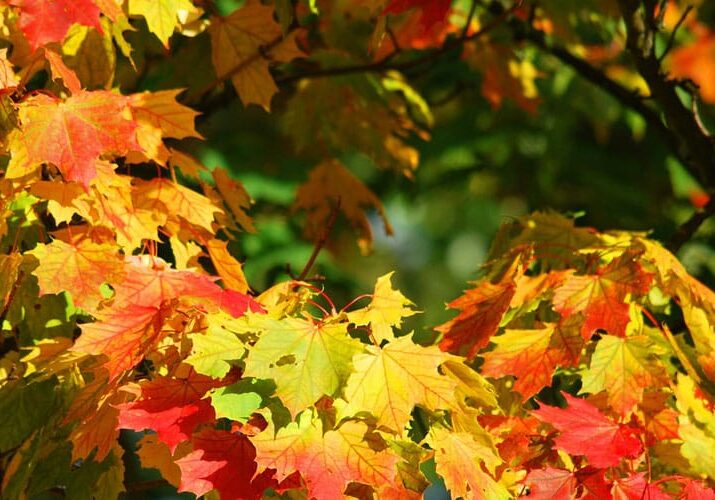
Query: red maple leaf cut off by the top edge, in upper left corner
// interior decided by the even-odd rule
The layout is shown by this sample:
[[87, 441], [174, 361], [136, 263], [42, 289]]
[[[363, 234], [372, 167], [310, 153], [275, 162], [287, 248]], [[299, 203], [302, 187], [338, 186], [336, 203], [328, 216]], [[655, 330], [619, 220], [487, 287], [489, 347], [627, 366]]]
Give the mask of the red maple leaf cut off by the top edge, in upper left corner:
[[92, 0], [11, 0], [20, 8], [20, 29], [31, 49], [61, 42], [75, 23], [102, 31], [99, 8]]

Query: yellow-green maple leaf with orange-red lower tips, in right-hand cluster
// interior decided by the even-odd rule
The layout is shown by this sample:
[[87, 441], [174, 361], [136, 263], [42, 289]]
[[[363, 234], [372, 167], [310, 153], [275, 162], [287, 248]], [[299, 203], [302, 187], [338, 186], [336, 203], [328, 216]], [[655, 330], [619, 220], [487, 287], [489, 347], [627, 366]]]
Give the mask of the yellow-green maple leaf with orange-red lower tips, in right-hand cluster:
[[604, 335], [596, 345], [583, 375], [581, 392], [605, 390], [609, 405], [626, 416], [643, 400], [643, 391], [667, 380], [664, 367], [653, 355], [653, 342], [645, 336]]

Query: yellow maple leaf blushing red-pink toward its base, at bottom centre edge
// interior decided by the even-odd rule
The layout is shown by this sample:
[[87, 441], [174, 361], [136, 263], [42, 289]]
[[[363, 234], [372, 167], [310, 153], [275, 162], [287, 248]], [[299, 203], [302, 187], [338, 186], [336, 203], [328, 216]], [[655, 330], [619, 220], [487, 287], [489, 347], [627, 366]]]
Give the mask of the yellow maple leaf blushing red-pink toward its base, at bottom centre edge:
[[395, 486], [398, 457], [389, 449], [373, 450], [365, 440], [367, 430], [363, 422], [348, 421], [323, 433], [320, 419], [306, 411], [275, 436], [268, 427], [251, 441], [258, 464], [275, 469], [279, 480], [298, 471], [309, 498], [341, 498], [351, 482], [376, 490]]

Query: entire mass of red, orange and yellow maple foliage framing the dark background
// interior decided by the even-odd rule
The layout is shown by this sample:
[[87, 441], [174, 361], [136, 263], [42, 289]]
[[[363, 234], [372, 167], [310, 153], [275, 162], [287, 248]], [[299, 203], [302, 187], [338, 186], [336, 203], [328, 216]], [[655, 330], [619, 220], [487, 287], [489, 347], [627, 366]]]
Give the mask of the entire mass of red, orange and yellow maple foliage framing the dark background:
[[[339, 212], [367, 250], [366, 208], [390, 226], [339, 151], [412, 175], [433, 118], [401, 72], [457, 48], [493, 106], [534, 112], [533, 64], [483, 36], [509, 18], [569, 39], [559, 2], [226, 3], [0, 1], [3, 496], [132, 491], [124, 429], [197, 496], [416, 498], [441, 478], [465, 498], [715, 498], [715, 294], [658, 243], [522, 217], [424, 345], [390, 274], [340, 309], [306, 276], [253, 294], [235, 256], [251, 200], [186, 152], [189, 100], [268, 111], [299, 80], [284, 120], [321, 154], [294, 207], [316, 252]], [[369, 43], [341, 45], [356, 26]], [[150, 77], [154, 38], [210, 59], [182, 102], [126, 76]], [[674, 71], [699, 78], [709, 43]]]

